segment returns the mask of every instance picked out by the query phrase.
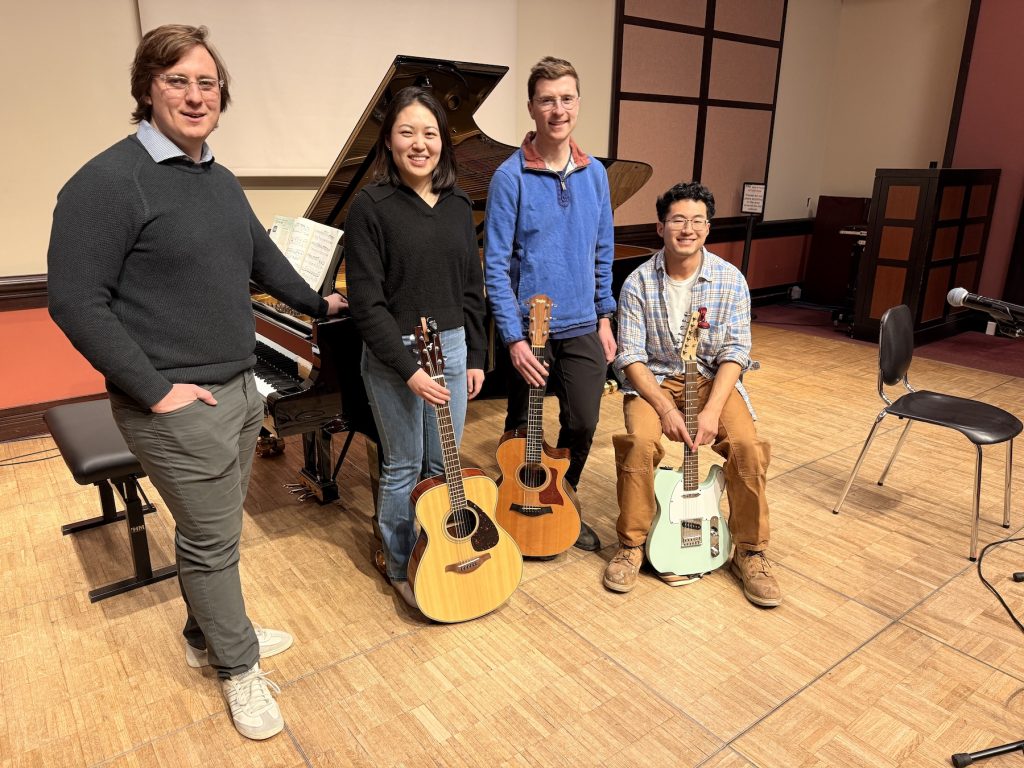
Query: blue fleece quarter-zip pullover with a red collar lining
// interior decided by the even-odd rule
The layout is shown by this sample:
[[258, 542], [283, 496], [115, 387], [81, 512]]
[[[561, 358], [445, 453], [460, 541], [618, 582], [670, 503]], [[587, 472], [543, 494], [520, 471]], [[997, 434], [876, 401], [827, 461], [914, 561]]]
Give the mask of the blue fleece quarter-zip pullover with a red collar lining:
[[529, 299], [554, 303], [551, 338], [597, 328], [615, 311], [614, 230], [604, 166], [569, 139], [575, 167], [564, 179], [534, 150], [532, 132], [495, 172], [483, 243], [487, 301], [506, 345], [526, 338]]

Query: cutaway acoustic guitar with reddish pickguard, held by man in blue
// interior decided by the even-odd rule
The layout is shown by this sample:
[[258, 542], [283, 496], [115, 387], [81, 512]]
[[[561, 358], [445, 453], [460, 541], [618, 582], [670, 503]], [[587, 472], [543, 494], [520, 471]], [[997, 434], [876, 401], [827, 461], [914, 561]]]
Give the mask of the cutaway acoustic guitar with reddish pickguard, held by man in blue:
[[[551, 306], [543, 294], [529, 300], [529, 344], [541, 365]], [[544, 385], [529, 388], [526, 428], [503, 434], [497, 453], [498, 522], [530, 557], [557, 555], [580, 537], [580, 503], [565, 480], [569, 450], [544, 441]]]

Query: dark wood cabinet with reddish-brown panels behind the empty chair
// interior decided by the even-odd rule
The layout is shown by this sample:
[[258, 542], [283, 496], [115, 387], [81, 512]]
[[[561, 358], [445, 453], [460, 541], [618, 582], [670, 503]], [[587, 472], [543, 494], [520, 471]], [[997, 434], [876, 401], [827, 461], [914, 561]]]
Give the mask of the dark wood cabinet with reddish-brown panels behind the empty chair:
[[998, 183], [993, 169], [876, 171], [855, 338], [877, 340], [882, 314], [897, 304], [910, 307], [915, 343], [968, 327], [967, 311], [949, 306], [946, 294], [976, 292]]

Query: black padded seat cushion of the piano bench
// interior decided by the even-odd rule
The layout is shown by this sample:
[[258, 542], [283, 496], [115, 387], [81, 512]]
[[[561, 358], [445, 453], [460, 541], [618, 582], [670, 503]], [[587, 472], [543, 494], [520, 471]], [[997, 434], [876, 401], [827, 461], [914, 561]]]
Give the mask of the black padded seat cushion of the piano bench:
[[114, 423], [110, 400], [57, 406], [43, 414], [43, 419], [79, 484], [143, 474]]

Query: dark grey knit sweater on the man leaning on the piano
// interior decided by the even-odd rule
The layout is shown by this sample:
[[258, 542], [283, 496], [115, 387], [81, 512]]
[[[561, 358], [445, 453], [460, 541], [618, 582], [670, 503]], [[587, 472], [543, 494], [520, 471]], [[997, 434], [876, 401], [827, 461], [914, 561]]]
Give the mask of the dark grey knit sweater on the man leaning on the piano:
[[296, 309], [327, 312], [230, 171], [158, 164], [134, 136], [65, 184], [47, 263], [54, 322], [109, 389], [144, 408], [172, 384], [221, 384], [252, 368], [250, 278]]

